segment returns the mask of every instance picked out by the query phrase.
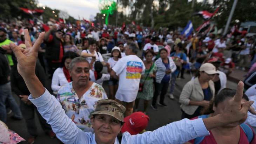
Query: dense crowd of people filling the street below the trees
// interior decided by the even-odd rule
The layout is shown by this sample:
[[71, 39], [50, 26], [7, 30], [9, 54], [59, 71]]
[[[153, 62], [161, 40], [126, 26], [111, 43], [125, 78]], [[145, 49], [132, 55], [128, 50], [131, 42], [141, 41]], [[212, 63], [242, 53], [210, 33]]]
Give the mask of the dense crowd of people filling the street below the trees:
[[[177, 127], [170, 124], [152, 133], [144, 132], [147, 127], [144, 123], [149, 121], [146, 115], [149, 102], [152, 100], [150, 105], [153, 110], [158, 110], [158, 105], [167, 108], [164, 100], [166, 95], [171, 100], [178, 97], [181, 119], [223, 114], [228, 105], [227, 100], [235, 95], [234, 90], [226, 88], [227, 76], [234, 73], [234, 69], [248, 71], [244, 80], [247, 92], [243, 95], [243, 103], [248, 102], [250, 97], [250, 100], [254, 100], [254, 37], [237, 35], [232, 39], [196, 33], [185, 37], [177, 30], [167, 28], [156, 31], [146, 27], [122, 29], [87, 25], [86, 28], [80, 28], [65, 24], [50, 26], [44, 35], [41, 33], [43, 31], [42, 26], [31, 24], [2, 23], [0, 27], [0, 120], [6, 123], [6, 116], [11, 111], [13, 119], [24, 118], [30, 136], [28, 143], [34, 143], [37, 136], [34, 111], [38, 114], [43, 131], [51, 138], [56, 137], [56, 133], [63, 143], [116, 143], [115, 137], [119, 137], [117, 134], [120, 131], [123, 134], [118, 140], [122, 143], [196, 143], [198, 136], [205, 136], [199, 143], [208, 143], [209, 140], [218, 143], [222, 137], [217, 131], [226, 132], [227, 129], [234, 135], [223, 138], [226, 142], [256, 143], [253, 130], [250, 132], [252, 139], [247, 139], [245, 133], [248, 132], [241, 130], [240, 137], [243, 139], [232, 139], [244, 126], [227, 125], [235, 120], [227, 120], [227, 123], [211, 128], [204, 123], [207, 130], [211, 129], [211, 136], [206, 136], [208, 132], [204, 131], [204, 127], [197, 129], [202, 131], [202, 135], [188, 130], [186, 133], [191, 132], [191, 136], [184, 139], [164, 132], [164, 129], [174, 129], [175, 133], [179, 131], [180, 125], [188, 125], [189, 129], [191, 122], [187, 119], [179, 121]], [[22, 48], [20, 52], [28, 57], [27, 61], [21, 62], [21, 54], [17, 55], [18, 52], [11, 49], [14, 47], [11, 43]], [[38, 49], [38, 54], [32, 49]], [[142, 55], [138, 54], [139, 51], [142, 51]], [[35, 55], [38, 55], [37, 59]], [[103, 59], [106, 56], [108, 60]], [[33, 68], [35, 71], [32, 71]], [[184, 85], [181, 94], [175, 96], [176, 81], [184, 79], [186, 72], [194, 73], [195, 76]], [[38, 77], [35, 81], [32, 77], [34, 73]], [[43, 88], [46, 78], [52, 81], [51, 89]], [[104, 81], [109, 88], [108, 94], [102, 86]], [[20, 108], [12, 91], [20, 97]], [[159, 95], [160, 100], [157, 102]], [[54, 98], [56, 101], [49, 101]], [[137, 112], [141, 99], [144, 101], [143, 110]], [[51, 108], [47, 108], [47, 105], [51, 105]], [[54, 117], [59, 118], [58, 121]], [[255, 118], [248, 112], [247, 124], [253, 128], [256, 128], [256, 123], [250, 119]], [[143, 124], [134, 123], [141, 121], [144, 121]], [[196, 122], [199, 126], [203, 121]], [[108, 123], [111, 128], [113, 126], [113, 131], [104, 130], [99, 123]], [[141, 127], [138, 130], [136, 126]], [[78, 135], [65, 137], [70, 131]], [[160, 139], [161, 132], [166, 137]], [[169, 135], [172, 135], [173, 140], [167, 138]]]

